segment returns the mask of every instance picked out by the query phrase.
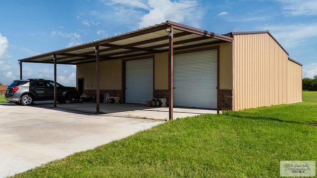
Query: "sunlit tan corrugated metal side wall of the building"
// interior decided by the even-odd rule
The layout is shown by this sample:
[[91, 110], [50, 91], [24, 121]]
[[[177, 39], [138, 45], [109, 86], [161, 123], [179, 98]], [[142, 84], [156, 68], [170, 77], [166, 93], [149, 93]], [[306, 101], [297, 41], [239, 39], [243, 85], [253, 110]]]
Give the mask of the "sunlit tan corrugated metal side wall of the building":
[[[234, 35], [233, 56], [234, 110], [301, 101], [301, 66], [289, 69], [288, 54], [269, 34]], [[289, 84], [289, 77], [297, 83]], [[290, 99], [292, 94], [296, 97]]]

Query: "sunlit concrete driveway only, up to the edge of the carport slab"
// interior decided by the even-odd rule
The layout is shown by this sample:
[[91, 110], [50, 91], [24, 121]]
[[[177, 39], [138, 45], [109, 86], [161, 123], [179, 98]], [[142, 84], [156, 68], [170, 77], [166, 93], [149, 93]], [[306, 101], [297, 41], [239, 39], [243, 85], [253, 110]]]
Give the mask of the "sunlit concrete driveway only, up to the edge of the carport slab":
[[163, 122], [0, 104], [0, 178]]

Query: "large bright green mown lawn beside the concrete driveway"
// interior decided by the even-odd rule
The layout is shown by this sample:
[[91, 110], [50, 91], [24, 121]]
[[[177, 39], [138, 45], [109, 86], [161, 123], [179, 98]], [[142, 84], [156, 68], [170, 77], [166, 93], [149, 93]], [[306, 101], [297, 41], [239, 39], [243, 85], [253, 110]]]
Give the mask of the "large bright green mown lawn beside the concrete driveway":
[[317, 160], [317, 92], [303, 100], [177, 119], [15, 178], [279, 177], [280, 160]]

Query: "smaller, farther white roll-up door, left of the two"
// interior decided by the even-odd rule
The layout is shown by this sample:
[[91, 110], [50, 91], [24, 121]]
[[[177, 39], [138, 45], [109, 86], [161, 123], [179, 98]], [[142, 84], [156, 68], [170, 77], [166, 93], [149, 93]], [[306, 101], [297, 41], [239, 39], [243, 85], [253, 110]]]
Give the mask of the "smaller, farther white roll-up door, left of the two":
[[153, 98], [153, 59], [126, 61], [125, 102], [146, 104]]

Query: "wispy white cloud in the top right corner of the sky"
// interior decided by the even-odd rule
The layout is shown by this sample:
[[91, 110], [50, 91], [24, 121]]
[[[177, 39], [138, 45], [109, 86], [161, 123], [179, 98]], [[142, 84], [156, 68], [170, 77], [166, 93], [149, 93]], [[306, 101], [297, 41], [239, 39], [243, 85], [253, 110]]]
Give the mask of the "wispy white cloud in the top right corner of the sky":
[[285, 4], [283, 9], [291, 15], [317, 15], [317, 0], [277, 0]]

